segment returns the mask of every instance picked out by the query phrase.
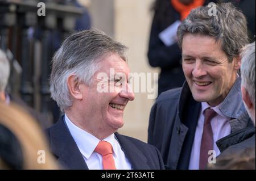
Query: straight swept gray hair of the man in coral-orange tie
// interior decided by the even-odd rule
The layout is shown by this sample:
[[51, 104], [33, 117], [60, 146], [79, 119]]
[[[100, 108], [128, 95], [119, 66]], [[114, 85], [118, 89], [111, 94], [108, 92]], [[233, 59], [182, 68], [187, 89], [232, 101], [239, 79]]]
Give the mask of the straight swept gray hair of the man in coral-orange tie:
[[126, 49], [98, 30], [85, 30], [69, 36], [53, 56], [50, 78], [51, 97], [61, 111], [73, 104], [67, 85], [69, 75], [75, 74], [77, 81], [90, 85], [102, 57], [116, 53], [126, 61]]

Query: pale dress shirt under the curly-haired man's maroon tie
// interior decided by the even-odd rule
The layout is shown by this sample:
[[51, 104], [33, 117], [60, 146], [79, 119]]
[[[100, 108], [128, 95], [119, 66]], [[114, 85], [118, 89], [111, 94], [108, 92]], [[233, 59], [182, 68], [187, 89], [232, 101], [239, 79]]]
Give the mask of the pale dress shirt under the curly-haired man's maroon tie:
[[[210, 105], [206, 102], [201, 103], [201, 112], [199, 121], [197, 123], [196, 127], [196, 133], [195, 138], [191, 150], [191, 157], [189, 162], [189, 170], [198, 170], [199, 169], [199, 160], [200, 160], [200, 148], [201, 148], [201, 140], [203, 136], [203, 129], [204, 129], [204, 111], [210, 107]], [[216, 107], [210, 107], [215, 112], [217, 112], [217, 115], [213, 117], [212, 121], [210, 121], [210, 124], [212, 125], [212, 132], [213, 132], [213, 150], [216, 153], [216, 157], [220, 154], [220, 150], [218, 149], [218, 146], [216, 145], [216, 141], [220, 140], [221, 138], [228, 136], [231, 133], [231, 127], [229, 124], [229, 120], [231, 117], [227, 117], [223, 115], [223, 113], [219, 110], [219, 107], [221, 104], [219, 104]]]

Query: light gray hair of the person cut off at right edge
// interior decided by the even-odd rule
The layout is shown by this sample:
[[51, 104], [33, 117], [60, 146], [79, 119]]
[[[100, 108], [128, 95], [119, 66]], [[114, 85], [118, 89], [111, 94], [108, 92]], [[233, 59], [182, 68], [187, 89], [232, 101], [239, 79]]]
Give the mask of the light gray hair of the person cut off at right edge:
[[243, 48], [241, 57], [242, 85], [249, 93], [255, 108], [255, 41]]

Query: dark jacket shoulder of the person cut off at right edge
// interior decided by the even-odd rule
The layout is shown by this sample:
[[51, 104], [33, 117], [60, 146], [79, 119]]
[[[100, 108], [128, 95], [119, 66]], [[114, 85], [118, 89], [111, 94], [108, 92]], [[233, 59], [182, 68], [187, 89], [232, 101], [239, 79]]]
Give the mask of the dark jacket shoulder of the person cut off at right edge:
[[216, 142], [221, 151], [218, 157], [242, 153], [245, 149], [255, 149], [255, 127], [247, 112], [233, 121], [237, 125], [237, 128], [233, 128], [234, 132]]

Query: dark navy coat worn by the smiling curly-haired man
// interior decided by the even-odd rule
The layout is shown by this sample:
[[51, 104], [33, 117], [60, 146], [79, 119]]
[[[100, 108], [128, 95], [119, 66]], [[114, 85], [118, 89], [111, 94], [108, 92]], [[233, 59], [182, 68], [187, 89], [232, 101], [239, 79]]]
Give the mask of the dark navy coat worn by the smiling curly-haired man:
[[[163, 92], [152, 107], [148, 143], [160, 150], [167, 169], [188, 169], [200, 111], [201, 103], [193, 99], [187, 82], [182, 88]], [[241, 96], [241, 78], [234, 83], [220, 111], [233, 119], [246, 111]], [[230, 120], [232, 133], [237, 124]]]

